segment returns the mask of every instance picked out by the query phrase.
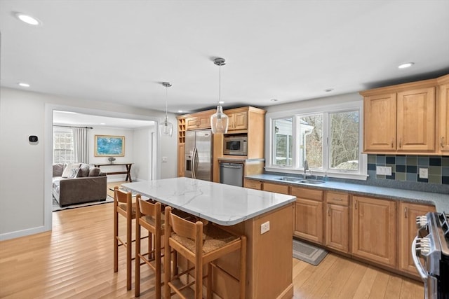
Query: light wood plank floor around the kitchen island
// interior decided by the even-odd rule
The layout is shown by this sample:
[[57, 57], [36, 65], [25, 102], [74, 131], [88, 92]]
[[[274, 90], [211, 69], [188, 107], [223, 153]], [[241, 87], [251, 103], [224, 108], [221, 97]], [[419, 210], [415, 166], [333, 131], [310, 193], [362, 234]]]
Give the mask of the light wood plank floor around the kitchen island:
[[[113, 271], [112, 214], [111, 203], [58, 211], [52, 232], [0, 242], [0, 298], [133, 298], [123, 250]], [[153, 283], [143, 266], [141, 298]], [[317, 267], [293, 258], [293, 284], [294, 298], [423, 297], [417, 281], [333, 253]]]

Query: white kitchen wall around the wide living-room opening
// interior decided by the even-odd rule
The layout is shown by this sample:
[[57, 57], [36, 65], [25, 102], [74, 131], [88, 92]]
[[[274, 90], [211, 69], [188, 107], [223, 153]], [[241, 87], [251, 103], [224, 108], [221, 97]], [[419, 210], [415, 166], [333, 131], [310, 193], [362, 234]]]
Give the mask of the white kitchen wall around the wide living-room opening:
[[[51, 230], [53, 110], [161, 121], [164, 113], [130, 106], [0, 89], [0, 239]], [[173, 114], [170, 122], [176, 123]], [[29, 135], [39, 137], [30, 144]], [[159, 138], [159, 137], [158, 137]], [[168, 162], [161, 167], [161, 151]], [[177, 142], [160, 137], [156, 178], [176, 176]]]

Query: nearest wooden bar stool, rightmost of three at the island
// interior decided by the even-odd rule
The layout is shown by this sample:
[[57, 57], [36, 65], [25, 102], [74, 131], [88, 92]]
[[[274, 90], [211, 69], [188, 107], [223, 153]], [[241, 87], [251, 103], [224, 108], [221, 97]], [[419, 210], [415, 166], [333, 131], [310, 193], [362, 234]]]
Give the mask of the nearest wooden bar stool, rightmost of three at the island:
[[[171, 295], [177, 294], [181, 298], [186, 298], [181, 292], [185, 288], [194, 286], [195, 299], [203, 298], [203, 278], [206, 278], [206, 290], [208, 299], [212, 298], [212, 266], [213, 261], [217, 258], [225, 256], [227, 253], [240, 249], [240, 271], [239, 271], [239, 294], [240, 298], [245, 298], [246, 292], [246, 236], [234, 235], [226, 230], [222, 230], [208, 223], [203, 227], [202, 221], [195, 223], [181, 218], [171, 212], [170, 207], [165, 209], [165, 260], [164, 260], [164, 298], [168, 299]], [[173, 263], [175, 274], [170, 272], [170, 250], [177, 251], [181, 256], [187, 258], [194, 267], [183, 270], [179, 274], [175, 270], [177, 265]], [[208, 265], [208, 273], [203, 277], [203, 265]], [[221, 270], [220, 267], [215, 267]], [[175, 285], [174, 281], [182, 275], [189, 275], [194, 271], [194, 281], [188, 282], [182, 286]], [[228, 274], [223, 271], [223, 273]], [[172, 290], [174, 293], [172, 293]]]

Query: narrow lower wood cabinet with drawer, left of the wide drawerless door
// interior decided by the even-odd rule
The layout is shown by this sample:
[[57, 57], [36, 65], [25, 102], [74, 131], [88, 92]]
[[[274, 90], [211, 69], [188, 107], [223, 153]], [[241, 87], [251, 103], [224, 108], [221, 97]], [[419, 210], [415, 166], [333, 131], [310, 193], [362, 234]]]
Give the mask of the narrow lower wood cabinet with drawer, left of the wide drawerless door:
[[349, 195], [326, 192], [324, 244], [337, 251], [349, 252]]

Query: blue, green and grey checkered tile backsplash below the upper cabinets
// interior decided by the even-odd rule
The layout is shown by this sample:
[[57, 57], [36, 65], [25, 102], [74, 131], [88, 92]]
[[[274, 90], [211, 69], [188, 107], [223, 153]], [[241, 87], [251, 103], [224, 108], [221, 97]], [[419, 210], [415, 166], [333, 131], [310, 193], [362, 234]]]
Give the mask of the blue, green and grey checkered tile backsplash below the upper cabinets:
[[[376, 174], [376, 167], [391, 167], [391, 176]], [[420, 178], [420, 168], [427, 169], [428, 178]], [[449, 157], [422, 155], [368, 155], [370, 178], [406, 182], [449, 185]]]

